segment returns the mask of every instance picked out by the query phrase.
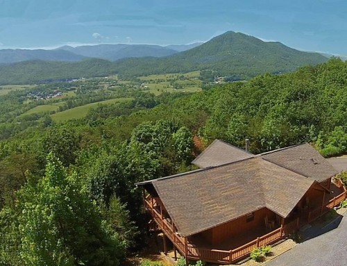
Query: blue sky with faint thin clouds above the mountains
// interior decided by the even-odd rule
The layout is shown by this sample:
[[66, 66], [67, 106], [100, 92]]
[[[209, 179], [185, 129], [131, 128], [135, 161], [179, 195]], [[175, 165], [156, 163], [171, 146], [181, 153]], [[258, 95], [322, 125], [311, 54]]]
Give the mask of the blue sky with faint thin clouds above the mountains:
[[189, 44], [226, 31], [347, 55], [347, 1], [0, 0], [0, 49]]

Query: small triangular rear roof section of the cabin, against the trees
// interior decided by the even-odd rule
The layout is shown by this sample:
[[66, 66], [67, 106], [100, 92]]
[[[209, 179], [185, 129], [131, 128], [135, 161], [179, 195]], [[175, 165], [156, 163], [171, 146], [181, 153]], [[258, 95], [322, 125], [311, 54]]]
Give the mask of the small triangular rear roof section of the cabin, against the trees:
[[200, 168], [206, 168], [252, 157], [254, 157], [252, 153], [248, 153], [221, 140], [214, 140], [192, 163]]

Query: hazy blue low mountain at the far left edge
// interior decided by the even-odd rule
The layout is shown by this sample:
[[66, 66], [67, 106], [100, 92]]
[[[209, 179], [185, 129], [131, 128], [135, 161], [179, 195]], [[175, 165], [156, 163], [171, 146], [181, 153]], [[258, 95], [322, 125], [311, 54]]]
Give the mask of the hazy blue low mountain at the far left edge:
[[84, 56], [65, 50], [43, 49], [2, 49], [0, 50], [0, 63], [15, 63], [27, 60], [45, 61], [80, 61]]

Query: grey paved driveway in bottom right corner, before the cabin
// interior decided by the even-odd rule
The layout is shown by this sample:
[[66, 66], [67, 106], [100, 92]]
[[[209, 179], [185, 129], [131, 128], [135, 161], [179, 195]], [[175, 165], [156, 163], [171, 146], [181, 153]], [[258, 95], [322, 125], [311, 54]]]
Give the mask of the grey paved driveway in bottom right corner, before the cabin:
[[[344, 266], [347, 265], [347, 217], [338, 219], [337, 224], [327, 226], [319, 235], [296, 245], [293, 249], [274, 258], [266, 266]], [[329, 228], [330, 227], [330, 228]]]

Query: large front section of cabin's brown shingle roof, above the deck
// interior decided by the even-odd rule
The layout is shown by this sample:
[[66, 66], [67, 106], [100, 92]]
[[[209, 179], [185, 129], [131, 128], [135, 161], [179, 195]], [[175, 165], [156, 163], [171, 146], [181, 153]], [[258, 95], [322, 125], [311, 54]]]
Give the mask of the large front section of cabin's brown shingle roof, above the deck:
[[314, 181], [250, 158], [152, 183], [178, 232], [187, 236], [264, 207], [287, 217]]

